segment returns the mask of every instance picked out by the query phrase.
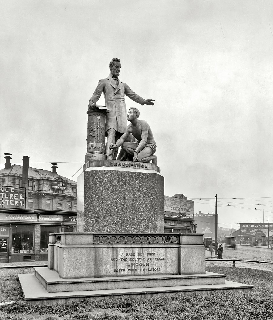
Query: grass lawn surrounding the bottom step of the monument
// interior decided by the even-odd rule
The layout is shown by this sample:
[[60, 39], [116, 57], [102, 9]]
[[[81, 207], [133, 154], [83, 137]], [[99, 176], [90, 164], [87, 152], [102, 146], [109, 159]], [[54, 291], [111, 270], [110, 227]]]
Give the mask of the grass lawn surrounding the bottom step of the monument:
[[17, 302], [0, 307], [0, 320], [273, 320], [272, 272], [230, 267], [207, 267], [207, 271], [226, 274], [226, 279], [230, 281], [251, 284], [253, 291], [28, 306], [22, 300], [17, 276], [1, 276], [1, 302]]

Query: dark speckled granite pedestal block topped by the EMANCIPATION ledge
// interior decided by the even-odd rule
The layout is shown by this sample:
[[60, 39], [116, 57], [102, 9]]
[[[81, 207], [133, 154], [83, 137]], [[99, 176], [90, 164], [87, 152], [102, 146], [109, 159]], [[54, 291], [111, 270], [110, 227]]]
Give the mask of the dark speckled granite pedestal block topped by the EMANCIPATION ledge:
[[164, 232], [164, 177], [154, 164], [89, 161], [77, 204], [78, 232]]

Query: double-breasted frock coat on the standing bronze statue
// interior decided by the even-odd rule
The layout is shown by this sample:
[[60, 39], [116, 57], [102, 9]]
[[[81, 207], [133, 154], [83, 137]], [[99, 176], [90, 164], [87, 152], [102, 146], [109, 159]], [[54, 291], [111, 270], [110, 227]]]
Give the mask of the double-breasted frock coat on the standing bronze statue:
[[109, 74], [107, 78], [99, 81], [98, 86], [89, 101], [93, 101], [94, 103], [97, 102], [100, 99], [102, 92], [105, 99], [105, 105], [110, 110], [106, 115], [106, 136], [107, 130], [110, 128], [114, 128], [116, 131], [124, 133], [127, 126], [125, 95], [140, 104], [142, 104], [144, 99], [133, 92], [125, 82], [121, 82], [118, 79], [118, 84], [116, 85], [111, 74]]

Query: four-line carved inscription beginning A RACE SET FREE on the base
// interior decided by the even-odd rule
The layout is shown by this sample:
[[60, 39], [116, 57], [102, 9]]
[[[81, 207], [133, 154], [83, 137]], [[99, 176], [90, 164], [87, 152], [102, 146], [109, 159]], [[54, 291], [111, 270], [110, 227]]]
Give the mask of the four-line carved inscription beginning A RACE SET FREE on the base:
[[160, 268], [151, 268], [149, 264], [154, 261], [165, 260], [165, 257], [157, 257], [155, 252], [148, 252], [146, 257], [144, 255], [144, 252], [132, 252], [126, 253], [126, 255], [122, 253], [120, 258], [111, 258], [110, 261], [126, 261], [126, 267], [114, 269], [114, 272], [125, 272], [125, 269], [127, 269], [126, 272], [137, 272], [139, 269], [136, 267], [140, 267], [140, 271], [160, 271]]

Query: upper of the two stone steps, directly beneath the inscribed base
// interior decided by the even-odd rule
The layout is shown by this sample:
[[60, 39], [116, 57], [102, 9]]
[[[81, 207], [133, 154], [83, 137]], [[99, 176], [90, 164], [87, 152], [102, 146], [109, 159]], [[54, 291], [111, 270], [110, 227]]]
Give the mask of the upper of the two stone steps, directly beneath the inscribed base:
[[47, 292], [172, 287], [197, 284], [224, 284], [226, 275], [206, 272], [197, 275], [151, 275], [62, 279], [46, 267], [34, 268], [36, 278]]

